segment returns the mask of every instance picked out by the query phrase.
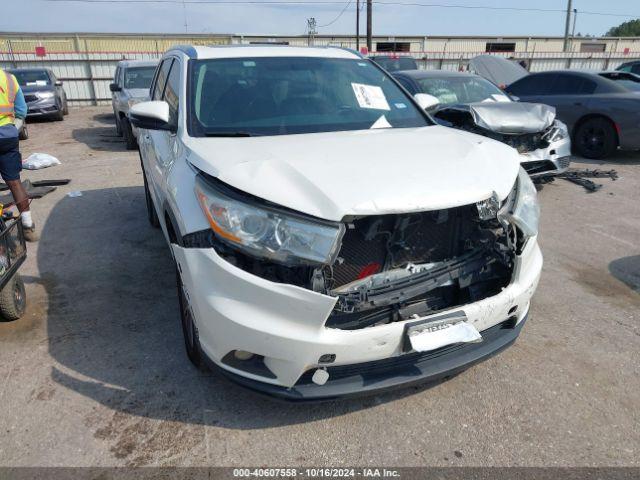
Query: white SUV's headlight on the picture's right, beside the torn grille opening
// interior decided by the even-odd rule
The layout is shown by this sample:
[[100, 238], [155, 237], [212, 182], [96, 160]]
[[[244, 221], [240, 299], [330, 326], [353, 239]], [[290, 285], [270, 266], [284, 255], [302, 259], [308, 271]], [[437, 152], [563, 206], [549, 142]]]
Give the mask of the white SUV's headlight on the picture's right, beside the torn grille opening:
[[504, 202], [500, 216], [515, 223], [526, 237], [538, 234], [540, 205], [538, 192], [525, 170], [520, 167], [512, 192]]

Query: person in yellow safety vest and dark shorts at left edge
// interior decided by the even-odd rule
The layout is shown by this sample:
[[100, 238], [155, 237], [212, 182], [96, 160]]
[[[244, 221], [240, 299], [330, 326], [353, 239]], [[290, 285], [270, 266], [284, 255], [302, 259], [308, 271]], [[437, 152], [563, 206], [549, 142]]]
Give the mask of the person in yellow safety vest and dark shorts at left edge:
[[20, 182], [22, 157], [18, 148], [18, 132], [27, 117], [27, 104], [16, 78], [0, 69], [0, 176], [6, 182], [20, 211], [24, 237], [38, 239], [29, 210], [29, 197]]

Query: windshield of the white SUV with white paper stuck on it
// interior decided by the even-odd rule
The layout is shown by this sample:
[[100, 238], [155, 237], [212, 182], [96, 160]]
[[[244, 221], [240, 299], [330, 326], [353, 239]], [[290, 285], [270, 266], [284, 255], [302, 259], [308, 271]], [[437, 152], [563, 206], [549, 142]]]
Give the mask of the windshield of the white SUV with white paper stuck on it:
[[260, 57], [190, 62], [192, 136], [286, 135], [429, 125], [367, 60]]

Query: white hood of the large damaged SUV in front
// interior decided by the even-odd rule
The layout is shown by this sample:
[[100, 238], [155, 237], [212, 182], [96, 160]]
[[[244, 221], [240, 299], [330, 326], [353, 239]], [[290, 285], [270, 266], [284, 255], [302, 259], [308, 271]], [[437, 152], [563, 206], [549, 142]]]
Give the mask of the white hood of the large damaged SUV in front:
[[335, 221], [503, 199], [520, 168], [514, 149], [441, 126], [185, 142], [222, 182]]

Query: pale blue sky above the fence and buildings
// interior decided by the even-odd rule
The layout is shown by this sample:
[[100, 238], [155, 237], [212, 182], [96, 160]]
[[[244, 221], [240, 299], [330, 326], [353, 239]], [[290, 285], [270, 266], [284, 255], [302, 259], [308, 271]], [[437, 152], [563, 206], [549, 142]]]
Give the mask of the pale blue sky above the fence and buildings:
[[[302, 35], [306, 33], [309, 17], [316, 19], [320, 34], [352, 34], [355, 31], [356, 0], [334, 0], [332, 3], [327, 3], [330, 0], [295, 0], [298, 3], [287, 5], [270, 3], [274, 0], [253, 0], [253, 3], [226, 0], [217, 4], [214, 2], [219, 0], [184, 1], [183, 4], [182, 0], [4, 0], [0, 32], [186, 31]], [[195, 3], [203, 1], [208, 3]], [[374, 35], [561, 36], [565, 22], [562, 11], [503, 9], [563, 10], [567, 6], [566, 0], [378, 1], [380, 3], [374, 0]], [[384, 5], [384, 2], [413, 5]], [[576, 33], [582, 34], [603, 35], [612, 26], [640, 18], [638, 0], [574, 0], [573, 8], [578, 10]]]

